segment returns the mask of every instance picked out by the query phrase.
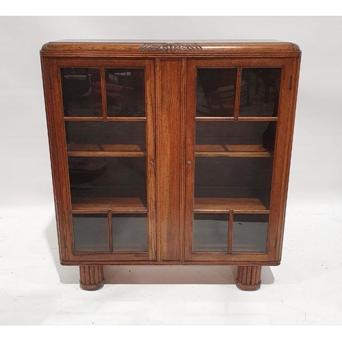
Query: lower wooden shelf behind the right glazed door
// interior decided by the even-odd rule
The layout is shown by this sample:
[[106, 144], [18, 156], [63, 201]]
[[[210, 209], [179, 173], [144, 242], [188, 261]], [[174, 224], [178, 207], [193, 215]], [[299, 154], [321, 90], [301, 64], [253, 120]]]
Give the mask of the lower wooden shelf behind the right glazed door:
[[269, 213], [259, 198], [195, 198], [194, 213]]

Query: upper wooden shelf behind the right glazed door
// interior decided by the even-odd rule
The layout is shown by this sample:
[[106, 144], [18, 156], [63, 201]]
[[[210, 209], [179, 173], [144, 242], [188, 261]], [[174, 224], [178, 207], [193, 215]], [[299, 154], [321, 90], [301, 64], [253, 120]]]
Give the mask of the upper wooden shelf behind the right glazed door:
[[270, 157], [261, 145], [196, 145], [195, 157]]

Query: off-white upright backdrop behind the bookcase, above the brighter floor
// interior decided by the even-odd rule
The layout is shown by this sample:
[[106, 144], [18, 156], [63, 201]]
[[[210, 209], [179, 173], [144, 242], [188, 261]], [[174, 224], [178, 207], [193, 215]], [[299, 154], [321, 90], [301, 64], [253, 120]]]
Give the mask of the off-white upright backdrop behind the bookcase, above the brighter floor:
[[[53, 210], [39, 51], [70, 38], [248, 39], [302, 49], [288, 213], [342, 201], [341, 17], [3, 17], [0, 207]], [[12, 211], [11, 210], [11, 211]]]

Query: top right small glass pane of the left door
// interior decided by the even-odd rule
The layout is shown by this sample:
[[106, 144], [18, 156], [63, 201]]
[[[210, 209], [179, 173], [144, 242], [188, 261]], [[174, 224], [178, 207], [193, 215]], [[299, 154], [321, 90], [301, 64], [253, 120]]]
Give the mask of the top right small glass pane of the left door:
[[145, 116], [144, 69], [105, 70], [107, 116]]

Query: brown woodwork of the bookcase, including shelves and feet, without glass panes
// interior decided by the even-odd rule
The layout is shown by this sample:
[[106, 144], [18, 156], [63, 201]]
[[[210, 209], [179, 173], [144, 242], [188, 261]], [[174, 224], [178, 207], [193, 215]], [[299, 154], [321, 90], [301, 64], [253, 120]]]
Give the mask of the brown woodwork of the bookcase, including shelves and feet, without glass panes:
[[[258, 289], [261, 266], [278, 265], [281, 258], [300, 68], [299, 47], [272, 40], [89, 40], [50, 42], [44, 44], [40, 54], [60, 259], [63, 265], [80, 266], [81, 287], [102, 287], [103, 265], [202, 264], [238, 265], [239, 289]], [[102, 116], [64, 117], [60, 68], [94, 67], [99, 68], [101, 74]], [[145, 117], [107, 116], [105, 68], [144, 68]], [[196, 68], [237, 68], [233, 117], [196, 117]], [[239, 116], [242, 68], [282, 69], [277, 115]], [[146, 122], [146, 148], [139, 141], [126, 145], [110, 142], [67, 145], [65, 123], [71, 120]], [[195, 124], [200, 121], [276, 124], [274, 150], [260, 143], [195, 145]], [[113, 194], [107, 198], [72, 200], [68, 157], [114, 157], [122, 158], [122, 162], [129, 160], [124, 158], [145, 158], [147, 198], [117, 198]], [[230, 158], [224, 159], [227, 162], [245, 158], [267, 162], [273, 158], [269, 207], [259, 198], [194, 198], [196, 160], [208, 157], [212, 161]], [[75, 252], [73, 215], [83, 213], [107, 214], [109, 252]], [[147, 214], [148, 252], [113, 252], [112, 213]], [[194, 213], [229, 214], [228, 252], [193, 252]], [[233, 217], [239, 213], [269, 214], [267, 252], [232, 252]]]

